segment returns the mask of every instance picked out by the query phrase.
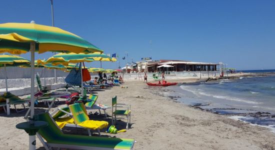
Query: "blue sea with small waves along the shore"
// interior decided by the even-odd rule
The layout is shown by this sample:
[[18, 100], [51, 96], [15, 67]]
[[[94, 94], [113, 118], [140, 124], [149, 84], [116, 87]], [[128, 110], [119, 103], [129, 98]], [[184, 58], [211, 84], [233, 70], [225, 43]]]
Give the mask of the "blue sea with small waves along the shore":
[[[165, 87], [187, 105], [268, 127], [275, 132], [275, 70], [245, 70], [258, 75]], [[265, 74], [265, 75], [262, 75]]]

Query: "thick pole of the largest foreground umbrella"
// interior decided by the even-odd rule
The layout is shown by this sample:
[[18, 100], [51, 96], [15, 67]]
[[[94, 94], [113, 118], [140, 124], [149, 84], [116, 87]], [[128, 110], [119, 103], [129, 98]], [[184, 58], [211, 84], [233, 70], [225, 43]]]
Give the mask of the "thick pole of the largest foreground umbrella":
[[[34, 50], [35, 42], [30, 43], [30, 119], [29, 123], [33, 124], [33, 115], [34, 115]], [[35, 135], [29, 135], [29, 149], [35, 149]]]

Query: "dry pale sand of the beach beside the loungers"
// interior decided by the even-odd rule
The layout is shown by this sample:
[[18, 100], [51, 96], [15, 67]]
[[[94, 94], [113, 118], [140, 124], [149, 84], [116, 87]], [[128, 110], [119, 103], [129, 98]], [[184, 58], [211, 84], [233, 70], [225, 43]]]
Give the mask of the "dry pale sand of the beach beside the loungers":
[[[188, 79], [189, 81], [192, 79]], [[170, 80], [169, 80], [170, 81]], [[179, 79], [186, 82], [186, 79]], [[142, 81], [127, 81], [121, 88], [95, 91], [98, 94], [97, 103], [111, 105], [111, 97], [117, 95], [119, 103], [132, 104], [131, 125], [126, 132], [106, 134], [102, 136], [117, 136], [134, 138], [134, 149], [274, 149], [275, 134], [269, 129], [252, 126], [248, 123], [230, 119], [224, 115], [213, 114], [176, 102], [169, 97], [156, 93], [165, 91], [165, 87], [149, 88]], [[43, 106], [43, 105], [41, 105]], [[37, 108], [37, 107], [36, 107]], [[43, 111], [37, 108], [35, 113]], [[52, 110], [56, 109], [52, 108]], [[0, 149], [27, 149], [28, 135], [15, 124], [24, 121], [25, 111], [6, 116], [0, 114]], [[92, 112], [95, 112], [93, 110]], [[92, 119], [111, 121], [111, 109], [107, 110], [109, 117], [90, 115]], [[118, 129], [125, 128], [125, 120], [118, 121]], [[82, 128], [63, 129], [65, 133], [87, 135]], [[36, 147], [44, 149], [36, 138]]]

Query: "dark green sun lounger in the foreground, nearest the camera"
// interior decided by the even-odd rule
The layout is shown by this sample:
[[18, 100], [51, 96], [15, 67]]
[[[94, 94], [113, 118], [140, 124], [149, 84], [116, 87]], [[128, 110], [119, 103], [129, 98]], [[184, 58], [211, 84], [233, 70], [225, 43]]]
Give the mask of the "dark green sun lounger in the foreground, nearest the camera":
[[35, 115], [34, 118], [48, 123], [36, 133], [45, 149], [132, 149], [135, 142], [134, 139], [64, 134], [48, 112]]

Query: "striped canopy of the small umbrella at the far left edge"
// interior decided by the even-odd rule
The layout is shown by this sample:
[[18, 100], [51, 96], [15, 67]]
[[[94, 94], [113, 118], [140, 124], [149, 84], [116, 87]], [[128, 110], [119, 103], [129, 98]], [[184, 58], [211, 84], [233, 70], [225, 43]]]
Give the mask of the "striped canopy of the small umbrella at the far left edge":
[[28, 65], [29, 60], [17, 55], [3, 54], [0, 55], [0, 66], [4, 66], [4, 64], [6, 66]]

